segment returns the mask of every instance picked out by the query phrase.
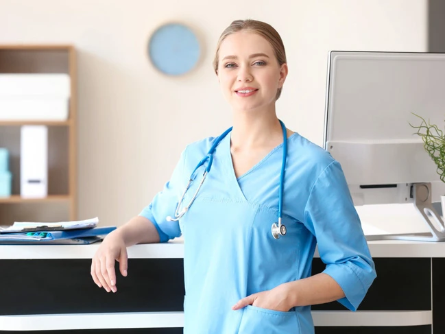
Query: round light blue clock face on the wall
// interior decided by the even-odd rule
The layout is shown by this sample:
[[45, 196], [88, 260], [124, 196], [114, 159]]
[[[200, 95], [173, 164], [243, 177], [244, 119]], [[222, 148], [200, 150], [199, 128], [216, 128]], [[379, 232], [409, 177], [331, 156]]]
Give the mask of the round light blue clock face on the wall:
[[169, 23], [156, 29], [148, 43], [149, 58], [154, 67], [167, 75], [187, 73], [200, 58], [200, 43], [191, 29], [180, 23]]

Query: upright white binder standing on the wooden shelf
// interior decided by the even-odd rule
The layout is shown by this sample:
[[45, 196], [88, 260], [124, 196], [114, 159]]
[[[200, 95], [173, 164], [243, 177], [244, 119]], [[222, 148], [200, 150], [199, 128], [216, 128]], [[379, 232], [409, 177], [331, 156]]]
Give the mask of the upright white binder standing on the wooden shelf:
[[46, 126], [22, 126], [20, 147], [21, 197], [47, 197], [48, 128]]

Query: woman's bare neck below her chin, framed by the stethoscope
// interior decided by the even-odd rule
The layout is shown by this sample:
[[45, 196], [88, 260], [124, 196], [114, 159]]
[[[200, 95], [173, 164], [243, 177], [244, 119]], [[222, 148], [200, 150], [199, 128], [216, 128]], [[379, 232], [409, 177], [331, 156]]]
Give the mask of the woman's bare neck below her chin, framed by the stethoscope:
[[282, 128], [271, 112], [234, 112], [231, 146], [237, 149], [254, 149], [282, 141]]

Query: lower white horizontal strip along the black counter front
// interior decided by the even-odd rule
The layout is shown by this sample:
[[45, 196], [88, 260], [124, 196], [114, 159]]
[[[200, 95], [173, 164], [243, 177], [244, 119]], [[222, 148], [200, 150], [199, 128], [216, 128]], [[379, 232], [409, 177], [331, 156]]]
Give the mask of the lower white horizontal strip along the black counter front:
[[[421, 326], [432, 311], [312, 311], [315, 326]], [[184, 326], [183, 312], [0, 315], [2, 331], [134, 329]]]

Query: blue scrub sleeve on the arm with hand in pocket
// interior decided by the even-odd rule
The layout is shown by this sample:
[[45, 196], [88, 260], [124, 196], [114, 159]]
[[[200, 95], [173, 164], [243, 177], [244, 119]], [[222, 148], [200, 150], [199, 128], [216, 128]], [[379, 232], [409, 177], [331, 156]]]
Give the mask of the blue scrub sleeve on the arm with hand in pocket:
[[346, 178], [337, 161], [317, 177], [304, 209], [304, 225], [317, 239], [325, 274], [343, 289], [338, 300], [355, 311], [376, 278], [359, 215], [354, 208]]

